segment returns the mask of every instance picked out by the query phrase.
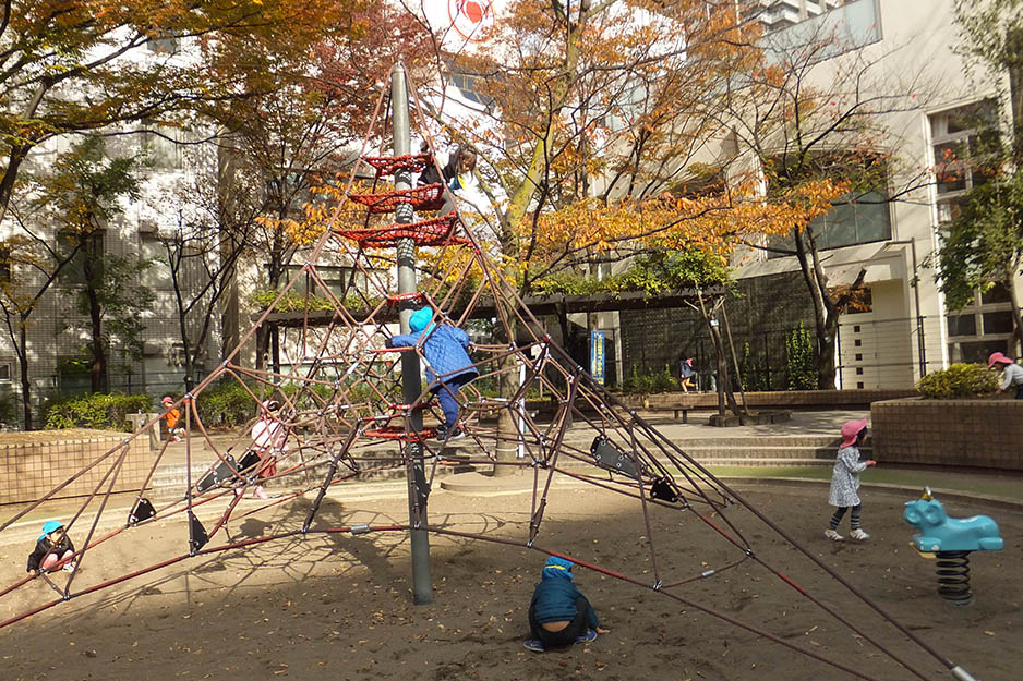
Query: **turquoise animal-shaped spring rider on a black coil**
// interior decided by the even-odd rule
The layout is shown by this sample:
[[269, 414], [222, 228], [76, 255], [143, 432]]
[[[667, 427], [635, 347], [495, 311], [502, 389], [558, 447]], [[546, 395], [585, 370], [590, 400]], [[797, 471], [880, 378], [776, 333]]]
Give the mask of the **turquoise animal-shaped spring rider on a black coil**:
[[987, 515], [949, 518], [930, 488], [916, 501], [906, 501], [902, 516], [920, 531], [911, 545], [920, 554], [938, 560], [938, 593], [953, 605], [973, 601], [970, 591], [970, 554], [997, 551], [1002, 547], [998, 523]]

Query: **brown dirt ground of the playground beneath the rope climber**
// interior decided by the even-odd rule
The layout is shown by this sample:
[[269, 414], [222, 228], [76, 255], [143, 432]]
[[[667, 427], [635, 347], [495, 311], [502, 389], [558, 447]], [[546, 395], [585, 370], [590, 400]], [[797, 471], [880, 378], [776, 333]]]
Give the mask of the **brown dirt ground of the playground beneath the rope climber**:
[[[829, 513], [825, 488], [755, 487], [743, 496], [798, 542], [875, 599], [929, 645], [983, 681], [1019, 679], [1023, 669], [1023, 514], [947, 502], [949, 514], [986, 513], [1006, 539], [1002, 551], [974, 554], [973, 605], [953, 607], [935, 591], [934, 561], [907, 544], [901, 518], [910, 499], [864, 494], [865, 544], [832, 544], [821, 536]], [[405, 523], [407, 501], [327, 500], [314, 527]], [[431, 497], [432, 523], [489, 537], [522, 540], [530, 495]], [[252, 503], [252, 502], [245, 502]], [[254, 506], [248, 508], [256, 508]], [[300, 527], [309, 508], [257, 511], [230, 524], [234, 540]], [[707, 509], [701, 508], [701, 511]], [[589, 570], [576, 582], [611, 633], [561, 652], [522, 647], [526, 612], [545, 556], [502, 543], [431, 538], [432, 605], [412, 604], [408, 537], [402, 532], [313, 534], [200, 556], [132, 581], [72, 598], [0, 630], [0, 677], [48, 681], [103, 679], [329, 678], [672, 679], [703, 681], [838, 680], [855, 678], [750, 631], [700, 611], [714, 608], [802, 648], [871, 678], [952, 679], [934, 657], [823, 575], [743, 508], [709, 519], [751, 544], [756, 556], [784, 572], [829, 608], [922, 672], [913, 676], [840, 624], [693, 513], [650, 510], [593, 488], [555, 489], [537, 545], [621, 571], [651, 588]], [[208, 525], [207, 525], [208, 526]], [[844, 527], [843, 527], [844, 530]], [[655, 551], [651, 554], [649, 537]], [[209, 546], [226, 543], [215, 535]], [[122, 534], [79, 574], [74, 589], [137, 570], [186, 550], [181, 523], [165, 521]], [[29, 546], [0, 547], [3, 583], [19, 579]], [[97, 558], [101, 561], [97, 562]], [[655, 567], [654, 567], [655, 563]], [[58, 575], [58, 580], [63, 575]], [[11, 617], [55, 593], [37, 580], [0, 597]]]

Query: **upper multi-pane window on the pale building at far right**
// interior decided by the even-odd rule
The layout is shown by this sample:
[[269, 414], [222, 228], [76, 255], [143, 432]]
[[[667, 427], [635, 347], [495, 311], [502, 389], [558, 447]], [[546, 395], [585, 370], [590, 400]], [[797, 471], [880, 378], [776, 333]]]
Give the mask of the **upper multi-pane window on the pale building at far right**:
[[991, 99], [935, 113], [930, 118], [938, 222], [959, 216], [963, 194], [987, 181], [984, 159], [998, 143]]

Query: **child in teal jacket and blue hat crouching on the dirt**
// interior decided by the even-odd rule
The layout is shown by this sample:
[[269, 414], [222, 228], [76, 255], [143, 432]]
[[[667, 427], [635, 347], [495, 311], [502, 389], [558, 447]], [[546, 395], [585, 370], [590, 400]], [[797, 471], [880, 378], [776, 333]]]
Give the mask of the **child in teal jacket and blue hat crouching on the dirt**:
[[573, 643], [592, 641], [606, 634], [590, 601], [571, 582], [571, 561], [557, 556], [547, 558], [540, 583], [529, 604], [529, 641], [526, 647], [538, 653]]

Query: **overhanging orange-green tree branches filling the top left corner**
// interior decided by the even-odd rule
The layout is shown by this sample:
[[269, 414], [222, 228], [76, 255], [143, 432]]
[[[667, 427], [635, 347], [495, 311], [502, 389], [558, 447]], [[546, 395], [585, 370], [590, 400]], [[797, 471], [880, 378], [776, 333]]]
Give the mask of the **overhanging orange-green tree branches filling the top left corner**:
[[[7, 0], [0, 21], [0, 221], [29, 153], [60, 135], [159, 120], [202, 102], [243, 97], [260, 86], [245, 68], [304, 51], [347, 2], [241, 0]], [[226, 46], [266, 54], [209, 69]], [[201, 53], [200, 53], [201, 52]]]

